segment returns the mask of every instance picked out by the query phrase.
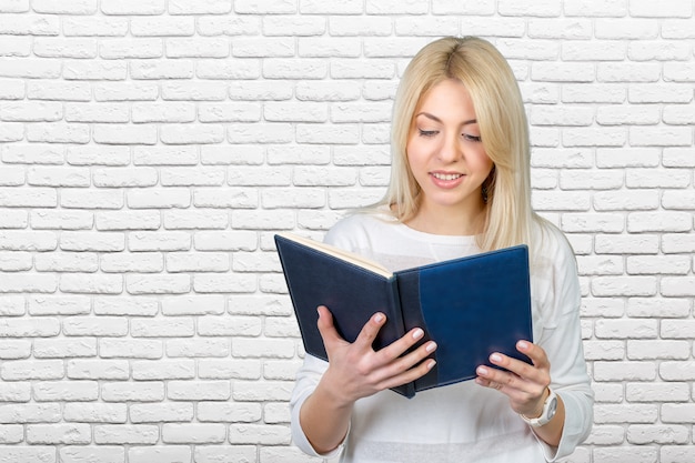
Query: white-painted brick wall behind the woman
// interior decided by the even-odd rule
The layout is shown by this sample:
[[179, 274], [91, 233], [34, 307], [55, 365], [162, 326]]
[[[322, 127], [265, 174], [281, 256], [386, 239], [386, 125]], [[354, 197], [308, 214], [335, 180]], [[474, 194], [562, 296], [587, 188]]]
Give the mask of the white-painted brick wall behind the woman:
[[510, 59], [577, 252], [568, 461], [695, 461], [693, 0], [0, 0], [0, 463], [315, 461], [272, 234], [381, 197], [441, 34]]

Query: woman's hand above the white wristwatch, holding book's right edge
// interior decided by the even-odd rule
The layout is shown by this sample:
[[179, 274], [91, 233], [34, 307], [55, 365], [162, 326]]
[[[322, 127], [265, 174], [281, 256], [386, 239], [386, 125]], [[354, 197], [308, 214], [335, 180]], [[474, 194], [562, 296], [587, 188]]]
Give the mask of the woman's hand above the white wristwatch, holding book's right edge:
[[540, 416], [551, 384], [551, 363], [543, 348], [528, 341], [518, 341], [516, 350], [528, 356], [533, 365], [501, 353], [493, 353], [490, 355], [490, 362], [507, 371], [480, 365], [476, 369], [479, 376], [475, 382], [505, 394], [516, 413], [528, 417]]

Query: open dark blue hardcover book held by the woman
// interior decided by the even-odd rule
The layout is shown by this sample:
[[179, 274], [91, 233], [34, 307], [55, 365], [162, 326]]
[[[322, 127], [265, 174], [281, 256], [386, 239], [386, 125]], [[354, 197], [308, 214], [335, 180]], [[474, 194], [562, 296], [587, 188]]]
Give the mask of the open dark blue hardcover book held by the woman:
[[374, 350], [420, 326], [437, 343], [436, 365], [419, 380], [393, 387], [417, 391], [476, 376], [488, 356], [501, 352], [530, 362], [516, 350], [532, 340], [528, 249], [525, 245], [390, 272], [379, 263], [292, 233], [275, 235], [280, 262], [294, 305], [304, 350], [328, 361], [316, 326], [319, 305], [333, 314], [349, 342], [376, 312], [386, 315]]

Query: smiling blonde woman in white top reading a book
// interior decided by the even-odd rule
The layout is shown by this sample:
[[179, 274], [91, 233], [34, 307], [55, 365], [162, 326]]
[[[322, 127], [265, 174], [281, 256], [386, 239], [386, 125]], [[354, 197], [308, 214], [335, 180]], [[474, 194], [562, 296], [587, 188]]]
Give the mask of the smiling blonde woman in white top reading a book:
[[[391, 270], [520, 243], [530, 246], [533, 364], [493, 353], [475, 381], [389, 391], [424, 375], [436, 340], [412, 352], [414, 329], [374, 352], [374, 314], [354, 343], [330, 308], [319, 329], [330, 362], [306, 355], [293, 392], [292, 435], [341, 462], [542, 462], [588, 434], [593, 393], [580, 332], [580, 285], [564, 235], [531, 209], [528, 128], [507, 62], [477, 38], [444, 38], [409, 64], [394, 104], [392, 180], [371, 213], [343, 219], [325, 241]], [[452, 283], [453, 284], [453, 283]], [[465, 298], [465, 294], [462, 294]], [[465, 355], [465, 352], [462, 352]]]

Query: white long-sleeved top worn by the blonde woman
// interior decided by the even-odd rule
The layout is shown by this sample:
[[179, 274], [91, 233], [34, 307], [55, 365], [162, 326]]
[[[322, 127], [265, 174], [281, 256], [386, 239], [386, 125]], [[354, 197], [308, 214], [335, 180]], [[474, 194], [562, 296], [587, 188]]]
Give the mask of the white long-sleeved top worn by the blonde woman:
[[[328, 368], [312, 355], [305, 356], [298, 372], [290, 404], [293, 442], [310, 455], [340, 454], [342, 463], [540, 463], [571, 454], [586, 439], [593, 421], [593, 392], [580, 329], [580, 283], [574, 254], [562, 232], [551, 225], [543, 229], [538, 227], [543, 234], [540, 251], [531, 256], [533, 342], [546, 351], [551, 387], [565, 404], [557, 447], [540, 441], [504, 394], [465, 381], [419, 392], [410, 400], [389, 390], [359, 400], [343, 443], [319, 455], [299, 421], [302, 404]], [[423, 233], [372, 214], [343, 219], [329, 231], [325, 242], [392, 271], [480, 252], [474, 236]]]

